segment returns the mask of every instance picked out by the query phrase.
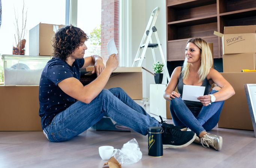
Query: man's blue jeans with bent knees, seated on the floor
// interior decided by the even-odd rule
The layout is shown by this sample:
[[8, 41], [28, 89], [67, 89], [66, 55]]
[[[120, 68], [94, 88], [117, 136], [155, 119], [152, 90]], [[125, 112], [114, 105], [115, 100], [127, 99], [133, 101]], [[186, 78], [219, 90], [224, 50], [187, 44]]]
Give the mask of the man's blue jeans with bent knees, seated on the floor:
[[117, 87], [103, 89], [89, 104], [80, 101], [74, 103], [58, 113], [43, 131], [50, 141], [66, 141], [96, 124], [104, 115], [142, 135], [147, 135], [148, 127], [161, 126], [154, 117], [148, 115]]

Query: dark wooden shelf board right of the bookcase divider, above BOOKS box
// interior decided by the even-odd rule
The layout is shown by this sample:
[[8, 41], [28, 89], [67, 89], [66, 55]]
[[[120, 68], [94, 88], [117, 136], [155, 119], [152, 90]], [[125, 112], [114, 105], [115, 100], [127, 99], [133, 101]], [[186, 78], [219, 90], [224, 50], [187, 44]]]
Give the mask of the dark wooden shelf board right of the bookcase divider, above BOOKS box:
[[225, 12], [225, 13], [220, 13], [220, 16], [222, 16], [223, 18], [243, 18], [243, 17], [247, 17], [247, 16], [256, 16], [256, 7], [253, 8], [249, 8], [249, 9], [243, 9], [243, 10], [236, 10], [236, 11], [232, 11], [232, 12]]

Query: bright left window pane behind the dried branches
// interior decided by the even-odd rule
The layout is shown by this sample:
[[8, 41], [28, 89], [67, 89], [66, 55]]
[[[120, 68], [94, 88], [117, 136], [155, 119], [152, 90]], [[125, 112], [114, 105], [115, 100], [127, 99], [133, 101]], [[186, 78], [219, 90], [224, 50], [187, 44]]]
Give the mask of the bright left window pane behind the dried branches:
[[[24, 0], [24, 21], [27, 11], [27, 22], [24, 34], [26, 39], [25, 55], [29, 55], [29, 30], [37, 24], [65, 24], [66, 0]], [[14, 34], [15, 13], [19, 27], [22, 27], [22, 0], [2, 0], [2, 24], [0, 28], [0, 54], [12, 54], [12, 47], [16, 46]], [[18, 42], [17, 42], [18, 43]]]

